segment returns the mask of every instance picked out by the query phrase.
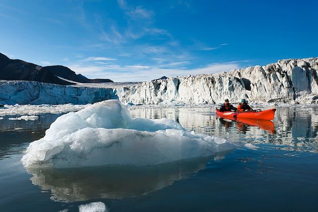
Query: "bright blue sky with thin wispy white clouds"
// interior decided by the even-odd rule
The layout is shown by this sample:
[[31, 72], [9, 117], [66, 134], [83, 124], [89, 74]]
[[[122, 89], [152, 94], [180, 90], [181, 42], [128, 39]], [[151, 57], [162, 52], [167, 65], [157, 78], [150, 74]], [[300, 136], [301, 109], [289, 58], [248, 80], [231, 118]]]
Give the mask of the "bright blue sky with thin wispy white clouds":
[[0, 0], [0, 53], [116, 82], [318, 57], [316, 0]]

